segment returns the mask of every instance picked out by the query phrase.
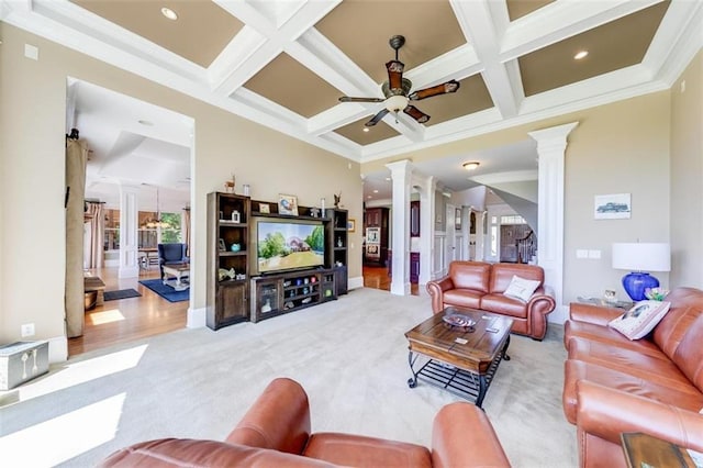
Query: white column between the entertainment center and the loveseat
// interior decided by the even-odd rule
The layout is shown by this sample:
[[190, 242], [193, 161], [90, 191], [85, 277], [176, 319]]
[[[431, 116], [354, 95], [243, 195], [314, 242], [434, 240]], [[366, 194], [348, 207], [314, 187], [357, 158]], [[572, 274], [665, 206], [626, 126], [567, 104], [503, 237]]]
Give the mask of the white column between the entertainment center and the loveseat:
[[[391, 294], [410, 294], [410, 180], [412, 166], [410, 160], [403, 159], [387, 164], [393, 180], [392, 238], [393, 277], [391, 278]], [[422, 213], [422, 201], [420, 204]], [[421, 218], [422, 219], [422, 218]], [[422, 223], [422, 222], [421, 222]], [[421, 233], [422, 233], [421, 224]], [[421, 254], [422, 263], [422, 254]]]

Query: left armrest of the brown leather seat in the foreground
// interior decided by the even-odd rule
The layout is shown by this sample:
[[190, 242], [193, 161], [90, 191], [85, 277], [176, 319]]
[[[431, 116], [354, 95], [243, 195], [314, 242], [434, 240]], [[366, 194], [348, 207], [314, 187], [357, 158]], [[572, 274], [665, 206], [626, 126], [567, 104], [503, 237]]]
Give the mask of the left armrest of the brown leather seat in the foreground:
[[274, 379], [225, 442], [301, 454], [310, 438], [310, 404], [300, 383]]

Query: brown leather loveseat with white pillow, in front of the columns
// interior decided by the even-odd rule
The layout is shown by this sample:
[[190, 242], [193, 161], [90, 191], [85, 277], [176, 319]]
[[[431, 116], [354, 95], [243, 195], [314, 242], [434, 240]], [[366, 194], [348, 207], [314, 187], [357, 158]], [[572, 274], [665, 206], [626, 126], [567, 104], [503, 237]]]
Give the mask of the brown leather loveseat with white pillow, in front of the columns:
[[[527, 302], [503, 294], [513, 276], [537, 280], [539, 287]], [[556, 302], [544, 289], [545, 271], [536, 265], [453, 261], [446, 277], [427, 282], [432, 311], [454, 305], [483, 310], [513, 319], [511, 332], [542, 341], [547, 334], [547, 315]]]

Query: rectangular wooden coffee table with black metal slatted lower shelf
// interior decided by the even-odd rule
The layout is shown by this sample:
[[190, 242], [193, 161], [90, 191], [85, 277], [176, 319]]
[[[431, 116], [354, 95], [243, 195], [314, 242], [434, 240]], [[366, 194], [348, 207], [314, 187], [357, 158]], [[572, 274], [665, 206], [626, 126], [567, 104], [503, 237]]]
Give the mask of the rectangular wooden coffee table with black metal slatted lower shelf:
[[[475, 324], [450, 325], [444, 321], [446, 314], [461, 314]], [[408, 386], [415, 388], [421, 379], [473, 400], [481, 408], [501, 360], [510, 360], [512, 324], [512, 319], [472, 309], [446, 308], [431, 316], [405, 333], [413, 375]], [[421, 356], [422, 363], [417, 363]]]

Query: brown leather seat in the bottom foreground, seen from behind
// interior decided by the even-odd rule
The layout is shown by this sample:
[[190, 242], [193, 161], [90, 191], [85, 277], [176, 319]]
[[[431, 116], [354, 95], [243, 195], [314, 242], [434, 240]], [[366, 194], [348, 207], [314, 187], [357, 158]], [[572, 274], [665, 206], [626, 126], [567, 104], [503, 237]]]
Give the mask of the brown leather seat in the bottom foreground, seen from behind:
[[435, 416], [432, 450], [403, 442], [311, 433], [308, 395], [295, 381], [272, 380], [225, 442], [165, 438], [112, 454], [102, 467], [509, 467], [486, 414], [467, 402]]

